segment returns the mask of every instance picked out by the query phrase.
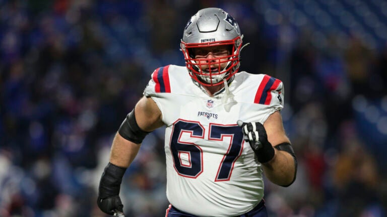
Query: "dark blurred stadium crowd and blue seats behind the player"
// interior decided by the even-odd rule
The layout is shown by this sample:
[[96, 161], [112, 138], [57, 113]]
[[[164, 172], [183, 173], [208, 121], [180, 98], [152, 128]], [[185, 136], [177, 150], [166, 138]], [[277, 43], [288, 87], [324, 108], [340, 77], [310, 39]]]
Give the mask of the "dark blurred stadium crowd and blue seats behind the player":
[[[206, 7], [239, 23], [241, 70], [285, 84], [299, 167], [266, 183], [270, 216], [386, 216], [385, 0], [0, 0], [0, 216], [105, 216], [113, 135]], [[160, 129], [124, 176], [126, 216], [165, 215], [164, 161]]]

